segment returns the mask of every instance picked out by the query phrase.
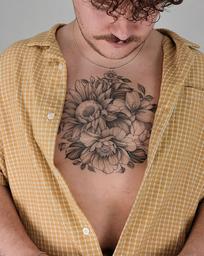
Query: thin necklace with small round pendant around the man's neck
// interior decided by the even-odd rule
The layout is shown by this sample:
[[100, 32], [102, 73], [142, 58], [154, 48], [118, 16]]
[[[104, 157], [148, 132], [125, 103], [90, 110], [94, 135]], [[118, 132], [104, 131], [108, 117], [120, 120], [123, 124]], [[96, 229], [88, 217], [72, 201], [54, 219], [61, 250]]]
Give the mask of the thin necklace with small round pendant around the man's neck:
[[[76, 20], [76, 19], [75, 19], [75, 20]], [[139, 54], [142, 52], [143, 46], [145, 45], [145, 42], [144, 42], [143, 45], [142, 45], [142, 47], [140, 48], [140, 51], [138, 52], [138, 54], [135, 55], [133, 59], [131, 59], [130, 61], [128, 61], [127, 63], [125, 63], [124, 65], [122, 65], [122, 66], [120, 66], [120, 67], [117, 67], [117, 68], [106, 68], [106, 67], [100, 66], [100, 65], [94, 63], [93, 61], [89, 60], [89, 59], [82, 53], [82, 51], [80, 50], [80, 48], [79, 48], [79, 46], [78, 46], [78, 44], [77, 44], [77, 41], [76, 41], [76, 39], [75, 39], [75, 36], [74, 36], [74, 23], [75, 23], [75, 20], [74, 20], [73, 26], [72, 26], [72, 34], [73, 34], [74, 43], [75, 43], [75, 45], [77, 46], [77, 49], [79, 50], [79, 52], [81, 53], [81, 55], [83, 56], [84, 59], [88, 60], [89, 62], [91, 62], [92, 64], [94, 64], [95, 66], [97, 66], [97, 67], [99, 67], [99, 68], [108, 69], [109, 72], [107, 73], [107, 76], [108, 76], [108, 78], [110, 78], [110, 79], [112, 79], [112, 78], [114, 78], [114, 77], [116, 76], [116, 74], [114, 73], [113, 69], [122, 68], [122, 67], [128, 65], [128, 64], [129, 64], [130, 62], [132, 62], [136, 57], [139, 56]]]

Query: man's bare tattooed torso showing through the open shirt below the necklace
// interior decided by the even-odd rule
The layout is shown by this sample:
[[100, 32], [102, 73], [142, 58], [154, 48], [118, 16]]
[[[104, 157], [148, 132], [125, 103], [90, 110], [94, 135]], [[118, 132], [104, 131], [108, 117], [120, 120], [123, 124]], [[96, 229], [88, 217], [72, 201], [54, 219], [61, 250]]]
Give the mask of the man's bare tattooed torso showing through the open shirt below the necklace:
[[[76, 55], [79, 53], [69, 51], [63, 44], [65, 41], [63, 39], [65, 27], [58, 30], [56, 34], [57, 42], [61, 47], [67, 63], [67, 95], [62, 115], [61, 130], [56, 138], [54, 164], [62, 173], [77, 203], [94, 228], [101, 251], [104, 255], [109, 256], [113, 255], [140, 189], [147, 166], [149, 136], [151, 124], [154, 120], [153, 109], [154, 106], [156, 108], [156, 105], [158, 105], [160, 84], [162, 81], [163, 36], [157, 31], [155, 32], [157, 38], [157, 43], [155, 44], [157, 44], [157, 47], [148, 61], [142, 61], [140, 65], [135, 64], [134, 67], [130, 65], [116, 71], [117, 76], [122, 76], [122, 78], [118, 78], [119, 82], [117, 83], [124, 83], [126, 84], [125, 88], [129, 87], [132, 89], [132, 92], [131, 90], [129, 91], [130, 97], [126, 97], [126, 101], [123, 100], [122, 105], [121, 99], [118, 101], [118, 98], [120, 98], [118, 94], [115, 94], [115, 101], [111, 101], [111, 98], [113, 98], [112, 94], [106, 95], [106, 98], [109, 100], [105, 104], [102, 96], [99, 100], [99, 95], [103, 94], [103, 89], [100, 89], [99, 92], [95, 91], [93, 98], [90, 98], [88, 95], [88, 83], [86, 81], [90, 82], [89, 84], [94, 82], [92, 86], [95, 86], [98, 78], [103, 79], [106, 77], [104, 74], [107, 73], [107, 70], [92, 66], [91, 63], [83, 59], [82, 61], [75, 61], [79, 60], [79, 55]], [[95, 81], [91, 77], [94, 77]], [[124, 78], [129, 79], [130, 82], [128, 80], [125, 82], [120, 80]], [[79, 82], [76, 83], [78, 80], [82, 84]], [[111, 86], [113, 86], [113, 83], [113, 81], [109, 81]], [[141, 85], [140, 87], [138, 83]], [[82, 87], [80, 91], [80, 86], [83, 86], [85, 89]], [[145, 89], [145, 92], [142, 92], [142, 88]], [[69, 91], [69, 89], [73, 91]], [[123, 96], [121, 97], [123, 98], [125, 90], [122, 89]], [[78, 91], [77, 94], [75, 93], [76, 91]], [[82, 103], [80, 101], [81, 99], [78, 99], [79, 94], [83, 98], [82, 102], [88, 102], [86, 103], [87, 105]], [[135, 94], [140, 95], [140, 98], [136, 97], [140, 100], [140, 107], [139, 105], [134, 106], [136, 110], [131, 109], [133, 108], [131, 107], [131, 99], [128, 102], [131, 95], [134, 98]], [[96, 102], [98, 105], [96, 105]], [[80, 104], [81, 107], [79, 107]], [[120, 110], [114, 110], [114, 108], [116, 109], [118, 107], [118, 104], [120, 105]], [[140, 111], [139, 113], [137, 108], [141, 108], [141, 104], [146, 105], [146, 109], [149, 111]], [[94, 113], [94, 110], [97, 110], [97, 108], [100, 114]], [[128, 117], [130, 113], [132, 115], [134, 114], [133, 110], [135, 110], [135, 116], [138, 115], [137, 118], [140, 120], [141, 127], [139, 128], [133, 118], [131, 116]], [[108, 118], [107, 112], [109, 115]], [[144, 116], [142, 116], [142, 113], [144, 113]], [[81, 119], [82, 114], [84, 115], [83, 119]], [[103, 118], [101, 117], [102, 119], [99, 119], [100, 116], [103, 116]], [[88, 120], [87, 118], [92, 119]], [[116, 121], [115, 118], [117, 119]], [[130, 121], [130, 118], [132, 118], [132, 121]], [[96, 119], [99, 119], [99, 121], [96, 121]], [[142, 124], [145, 122], [149, 123], [146, 129]], [[88, 123], [91, 123], [92, 126], [88, 126]], [[133, 123], [134, 129], [131, 129], [130, 125]], [[65, 127], [64, 131], [62, 127]], [[127, 129], [129, 129], [129, 132]], [[102, 132], [103, 130], [106, 131]], [[141, 131], [143, 137], [142, 135], [139, 137], [136, 134]], [[94, 138], [93, 133], [100, 135]], [[133, 133], [134, 136], [132, 136]], [[130, 138], [127, 139], [127, 137]], [[67, 138], [72, 141], [67, 143]], [[128, 146], [124, 146], [124, 143]], [[112, 153], [109, 153], [109, 155], [107, 152], [104, 153], [104, 151], [101, 151], [104, 150], [105, 146], [109, 147], [110, 150], [113, 147], [116, 148], [114, 153], [116, 155], [115, 158], [109, 156], [113, 153], [114, 149], [110, 151]], [[81, 151], [80, 147], [82, 148]], [[138, 149], [138, 156], [137, 154], [136, 156], [133, 154], [133, 151], [136, 152], [135, 149]], [[123, 155], [122, 160], [120, 158], [121, 155]], [[103, 162], [105, 158], [106, 161], [104, 160]], [[92, 160], [90, 161], [90, 159]]]

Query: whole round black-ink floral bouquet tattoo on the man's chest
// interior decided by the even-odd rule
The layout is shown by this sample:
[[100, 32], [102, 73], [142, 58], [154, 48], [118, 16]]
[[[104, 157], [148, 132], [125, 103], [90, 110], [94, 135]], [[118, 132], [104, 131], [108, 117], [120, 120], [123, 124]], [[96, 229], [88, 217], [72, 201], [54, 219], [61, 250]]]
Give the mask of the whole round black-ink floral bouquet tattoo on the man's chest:
[[157, 105], [142, 85], [136, 91], [128, 83], [106, 73], [77, 80], [75, 90], [66, 92], [58, 133], [67, 142], [58, 147], [81, 170], [124, 173], [126, 166], [134, 168], [147, 158]]

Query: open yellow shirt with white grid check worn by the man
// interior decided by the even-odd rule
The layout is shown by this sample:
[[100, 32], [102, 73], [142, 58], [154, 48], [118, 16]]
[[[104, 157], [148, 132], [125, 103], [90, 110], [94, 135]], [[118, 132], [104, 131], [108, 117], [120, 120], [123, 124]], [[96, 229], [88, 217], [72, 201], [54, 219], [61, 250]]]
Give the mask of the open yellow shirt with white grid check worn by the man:
[[[1, 54], [0, 184], [10, 187], [23, 226], [41, 251], [102, 256], [94, 229], [53, 161], [67, 76], [55, 32], [64, 25]], [[204, 54], [173, 31], [158, 31], [165, 35], [163, 77], [148, 164], [114, 256], [179, 254], [204, 198]]]

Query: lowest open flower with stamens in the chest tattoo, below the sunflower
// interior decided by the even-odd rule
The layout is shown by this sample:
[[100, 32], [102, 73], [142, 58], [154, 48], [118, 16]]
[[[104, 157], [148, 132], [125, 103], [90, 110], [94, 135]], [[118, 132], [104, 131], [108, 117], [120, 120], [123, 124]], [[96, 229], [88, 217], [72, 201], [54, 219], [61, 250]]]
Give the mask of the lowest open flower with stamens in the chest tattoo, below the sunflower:
[[101, 135], [82, 132], [80, 141], [86, 147], [81, 153], [81, 162], [91, 164], [94, 169], [104, 173], [123, 170], [122, 165], [130, 162], [128, 151], [134, 151], [135, 142], [119, 127], [105, 129]]

